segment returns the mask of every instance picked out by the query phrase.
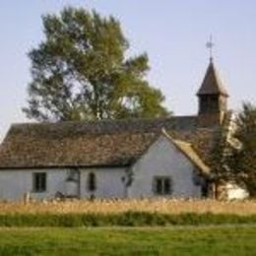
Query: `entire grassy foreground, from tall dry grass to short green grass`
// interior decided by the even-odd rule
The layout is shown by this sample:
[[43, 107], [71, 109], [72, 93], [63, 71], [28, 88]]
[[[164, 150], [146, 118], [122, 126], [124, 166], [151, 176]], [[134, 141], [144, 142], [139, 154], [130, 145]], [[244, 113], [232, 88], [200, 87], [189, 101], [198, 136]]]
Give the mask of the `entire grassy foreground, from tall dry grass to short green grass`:
[[2, 202], [0, 210], [0, 256], [256, 256], [255, 200]]

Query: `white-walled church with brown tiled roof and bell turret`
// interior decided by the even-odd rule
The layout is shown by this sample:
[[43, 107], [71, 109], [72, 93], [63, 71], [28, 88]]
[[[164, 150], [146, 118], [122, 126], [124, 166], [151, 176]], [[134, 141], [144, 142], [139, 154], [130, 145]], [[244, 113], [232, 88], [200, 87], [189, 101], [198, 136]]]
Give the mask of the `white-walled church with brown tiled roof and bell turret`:
[[212, 58], [197, 97], [192, 116], [13, 124], [0, 146], [0, 199], [209, 196], [210, 152], [231, 124]]

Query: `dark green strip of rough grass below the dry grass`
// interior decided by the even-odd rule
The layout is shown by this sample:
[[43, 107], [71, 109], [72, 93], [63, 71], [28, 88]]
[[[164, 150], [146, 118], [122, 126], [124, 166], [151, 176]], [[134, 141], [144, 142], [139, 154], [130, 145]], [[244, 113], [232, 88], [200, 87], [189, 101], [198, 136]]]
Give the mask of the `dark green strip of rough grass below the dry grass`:
[[0, 215], [0, 226], [169, 226], [201, 224], [256, 224], [256, 215], [214, 215], [180, 214], [164, 215], [159, 213], [126, 212], [121, 214], [16, 214]]

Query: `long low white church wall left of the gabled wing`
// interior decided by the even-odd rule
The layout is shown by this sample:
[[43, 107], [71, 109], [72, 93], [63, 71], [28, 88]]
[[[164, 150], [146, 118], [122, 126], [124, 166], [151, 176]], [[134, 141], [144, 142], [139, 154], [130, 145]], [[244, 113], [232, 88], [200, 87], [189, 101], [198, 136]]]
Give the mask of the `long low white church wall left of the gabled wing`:
[[[46, 191], [34, 193], [32, 191], [32, 173], [46, 172]], [[88, 190], [88, 174], [96, 174], [96, 191]], [[96, 198], [123, 198], [125, 197], [125, 185], [123, 177], [125, 168], [95, 168], [80, 169], [80, 184], [67, 182], [70, 169], [17, 169], [0, 170], [0, 200], [23, 200], [26, 193], [30, 193], [33, 199], [54, 198], [57, 192], [64, 195], [74, 195], [81, 198], [90, 198], [92, 194]], [[72, 183], [72, 184], [71, 184]]]

